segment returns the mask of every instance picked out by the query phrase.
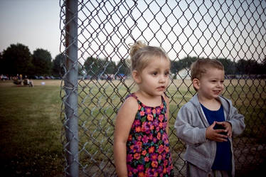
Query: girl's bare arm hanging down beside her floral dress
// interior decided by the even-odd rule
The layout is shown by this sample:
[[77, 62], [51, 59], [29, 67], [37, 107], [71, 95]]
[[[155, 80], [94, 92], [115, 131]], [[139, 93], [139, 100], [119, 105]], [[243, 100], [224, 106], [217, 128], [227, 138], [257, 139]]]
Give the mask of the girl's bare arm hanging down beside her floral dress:
[[114, 134], [114, 155], [117, 176], [127, 176], [127, 139], [138, 109], [137, 100], [128, 97], [117, 113]]

